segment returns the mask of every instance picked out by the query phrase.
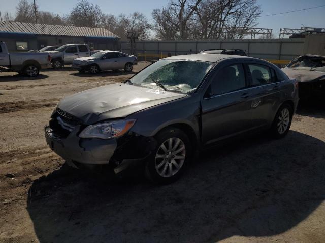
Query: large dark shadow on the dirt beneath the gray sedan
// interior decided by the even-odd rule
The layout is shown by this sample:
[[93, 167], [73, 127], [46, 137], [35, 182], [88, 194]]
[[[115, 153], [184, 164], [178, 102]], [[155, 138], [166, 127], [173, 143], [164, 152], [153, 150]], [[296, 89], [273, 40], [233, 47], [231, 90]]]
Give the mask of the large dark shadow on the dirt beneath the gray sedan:
[[290, 131], [200, 155], [174, 184], [66, 167], [35, 181], [27, 210], [40, 242], [216, 242], [270, 236], [325, 199], [325, 143]]

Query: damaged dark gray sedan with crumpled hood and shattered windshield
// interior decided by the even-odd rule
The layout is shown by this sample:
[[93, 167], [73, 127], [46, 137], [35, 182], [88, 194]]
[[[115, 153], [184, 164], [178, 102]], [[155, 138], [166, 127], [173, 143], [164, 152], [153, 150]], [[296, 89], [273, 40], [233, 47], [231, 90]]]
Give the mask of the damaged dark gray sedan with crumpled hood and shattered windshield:
[[70, 166], [119, 173], [144, 165], [154, 182], [169, 183], [196, 150], [259, 130], [284, 137], [297, 104], [296, 81], [267, 61], [174, 56], [124, 83], [62, 99], [45, 137]]

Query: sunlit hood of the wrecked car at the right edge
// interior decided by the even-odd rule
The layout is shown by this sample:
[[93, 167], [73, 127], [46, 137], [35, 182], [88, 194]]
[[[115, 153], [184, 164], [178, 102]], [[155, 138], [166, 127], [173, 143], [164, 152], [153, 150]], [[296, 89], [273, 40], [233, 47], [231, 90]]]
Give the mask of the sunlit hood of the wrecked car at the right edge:
[[325, 80], [325, 72], [298, 70], [293, 68], [281, 69], [288, 77], [295, 78], [298, 82], [312, 82]]

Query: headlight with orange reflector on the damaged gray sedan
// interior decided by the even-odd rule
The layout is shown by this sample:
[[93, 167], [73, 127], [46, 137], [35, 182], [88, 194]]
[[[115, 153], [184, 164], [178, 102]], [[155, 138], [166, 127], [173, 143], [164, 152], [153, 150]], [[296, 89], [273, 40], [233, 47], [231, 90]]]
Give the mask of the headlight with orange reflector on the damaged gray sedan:
[[116, 120], [109, 123], [100, 123], [86, 127], [80, 134], [80, 138], [113, 138], [120, 137], [128, 132], [136, 120]]

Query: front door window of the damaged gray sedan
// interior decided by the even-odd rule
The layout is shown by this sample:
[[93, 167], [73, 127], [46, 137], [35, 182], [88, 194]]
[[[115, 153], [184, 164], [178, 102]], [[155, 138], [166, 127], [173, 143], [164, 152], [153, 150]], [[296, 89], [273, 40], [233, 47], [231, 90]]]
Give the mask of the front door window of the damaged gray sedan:
[[222, 68], [211, 83], [213, 95], [226, 94], [246, 88], [243, 64], [233, 64]]

